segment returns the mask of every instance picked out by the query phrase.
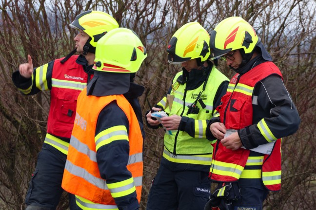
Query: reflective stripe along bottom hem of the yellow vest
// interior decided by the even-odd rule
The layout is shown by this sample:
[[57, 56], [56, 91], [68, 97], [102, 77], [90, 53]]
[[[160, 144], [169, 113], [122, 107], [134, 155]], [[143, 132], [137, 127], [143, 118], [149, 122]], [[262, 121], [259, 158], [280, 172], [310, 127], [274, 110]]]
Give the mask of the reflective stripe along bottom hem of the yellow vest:
[[199, 165], [211, 165], [212, 163], [212, 154], [195, 156], [173, 155], [164, 149], [162, 156], [167, 160], [176, 163], [191, 163]]

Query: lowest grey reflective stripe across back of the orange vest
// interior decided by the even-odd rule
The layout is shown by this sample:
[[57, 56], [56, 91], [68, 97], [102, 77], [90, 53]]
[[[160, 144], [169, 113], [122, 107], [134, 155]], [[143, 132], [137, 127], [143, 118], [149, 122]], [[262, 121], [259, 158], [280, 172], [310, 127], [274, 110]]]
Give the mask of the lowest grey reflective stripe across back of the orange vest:
[[90, 174], [85, 169], [72, 164], [69, 160], [66, 161], [65, 169], [68, 170], [70, 174], [81, 177], [102, 190], [109, 190], [104, 179]]

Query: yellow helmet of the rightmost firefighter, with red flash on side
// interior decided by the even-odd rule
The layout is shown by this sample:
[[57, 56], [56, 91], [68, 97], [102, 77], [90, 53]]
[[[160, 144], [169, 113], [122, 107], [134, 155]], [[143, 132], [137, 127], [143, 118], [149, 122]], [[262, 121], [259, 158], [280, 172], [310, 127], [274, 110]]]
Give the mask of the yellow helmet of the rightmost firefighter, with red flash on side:
[[211, 32], [211, 59], [237, 49], [243, 49], [245, 54], [252, 53], [258, 42], [260, 38], [246, 20], [240, 17], [226, 18]]

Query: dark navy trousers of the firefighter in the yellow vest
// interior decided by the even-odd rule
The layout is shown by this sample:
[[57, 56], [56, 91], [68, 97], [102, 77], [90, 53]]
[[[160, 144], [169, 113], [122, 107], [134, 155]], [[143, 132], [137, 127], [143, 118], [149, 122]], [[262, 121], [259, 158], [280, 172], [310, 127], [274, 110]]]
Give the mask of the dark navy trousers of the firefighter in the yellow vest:
[[203, 210], [210, 196], [208, 172], [177, 170], [160, 164], [148, 195], [147, 210]]

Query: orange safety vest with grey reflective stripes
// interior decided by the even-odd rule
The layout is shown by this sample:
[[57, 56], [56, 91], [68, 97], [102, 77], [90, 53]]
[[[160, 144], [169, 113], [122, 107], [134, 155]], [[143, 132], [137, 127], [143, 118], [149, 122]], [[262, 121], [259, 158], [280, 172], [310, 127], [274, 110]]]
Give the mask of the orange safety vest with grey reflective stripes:
[[[128, 131], [130, 153], [127, 169], [133, 176], [139, 202], [142, 187], [143, 139], [135, 112], [123, 95], [96, 97], [86, 96], [86, 93], [87, 90], [84, 88], [78, 97], [76, 119], [62, 179], [62, 188], [94, 203], [111, 207], [116, 205], [111, 190], [112, 193], [118, 192], [124, 186], [114, 190], [109, 189], [106, 180], [101, 178], [96, 159], [95, 142], [95, 131], [100, 111], [112, 101], [116, 101], [126, 114], [130, 125]], [[133, 182], [129, 184], [129, 187], [131, 184]]]

